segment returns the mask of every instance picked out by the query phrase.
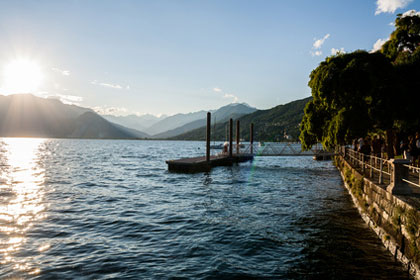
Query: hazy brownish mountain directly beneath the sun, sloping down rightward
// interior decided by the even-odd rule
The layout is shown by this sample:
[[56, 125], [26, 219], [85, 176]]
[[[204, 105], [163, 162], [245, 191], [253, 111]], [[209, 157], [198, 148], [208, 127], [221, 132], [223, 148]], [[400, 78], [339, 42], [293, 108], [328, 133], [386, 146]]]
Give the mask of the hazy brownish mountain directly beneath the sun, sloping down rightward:
[[53, 138], [143, 138], [88, 108], [31, 94], [0, 95], [0, 136]]

